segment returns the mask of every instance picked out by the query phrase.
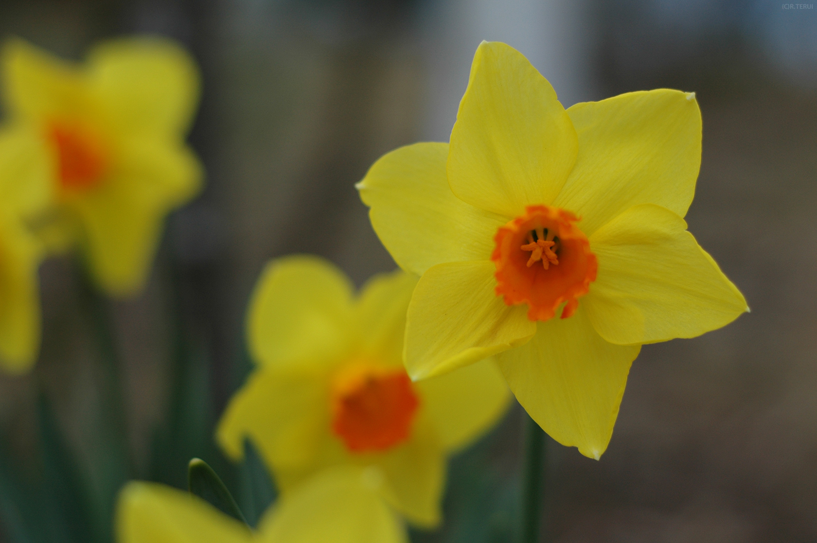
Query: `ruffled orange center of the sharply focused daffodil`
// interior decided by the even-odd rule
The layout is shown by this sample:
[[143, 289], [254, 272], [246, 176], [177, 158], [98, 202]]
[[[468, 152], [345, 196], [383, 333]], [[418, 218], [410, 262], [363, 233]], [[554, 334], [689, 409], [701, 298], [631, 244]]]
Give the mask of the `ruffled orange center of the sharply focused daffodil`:
[[562, 304], [561, 318], [568, 318], [596, 280], [596, 255], [577, 220], [558, 207], [529, 206], [493, 238], [497, 296], [507, 305], [527, 304], [532, 321], [552, 318]]

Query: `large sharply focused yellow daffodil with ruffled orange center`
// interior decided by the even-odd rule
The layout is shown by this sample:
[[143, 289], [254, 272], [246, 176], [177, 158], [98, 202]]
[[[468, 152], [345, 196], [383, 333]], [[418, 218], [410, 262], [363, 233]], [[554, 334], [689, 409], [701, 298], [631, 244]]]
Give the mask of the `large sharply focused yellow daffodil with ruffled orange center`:
[[450, 143], [396, 149], [358, 185], [382, 243], [422, 275], [409, 375], [497, 354], [530, 416], [599, 458], [641, 344], [748, 310], [686, 231], [700, 154], [693, 93], [565, 110], [519, 51], [483, 42]]

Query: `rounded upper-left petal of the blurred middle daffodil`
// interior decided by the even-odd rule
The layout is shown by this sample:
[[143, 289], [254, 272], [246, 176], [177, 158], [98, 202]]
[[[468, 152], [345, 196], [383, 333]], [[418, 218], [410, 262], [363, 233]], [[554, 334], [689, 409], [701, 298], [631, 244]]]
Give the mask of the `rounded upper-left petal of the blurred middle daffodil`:
[[249, 346], [257, 364], [325, 365], [347, 353], [352, 285], [339, 269], [316, 256], [287, 256], [266, 266], [248, 312]]

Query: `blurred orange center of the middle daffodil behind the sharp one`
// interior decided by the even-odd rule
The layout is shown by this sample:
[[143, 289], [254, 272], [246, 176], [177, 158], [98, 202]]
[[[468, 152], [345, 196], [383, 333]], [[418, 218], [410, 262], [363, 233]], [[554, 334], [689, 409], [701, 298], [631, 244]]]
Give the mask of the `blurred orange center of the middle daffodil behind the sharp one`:
[[385, 451], [411, 434], [419, 398], [403, 368], [351, 364], [335, 376], [332, 430], [350, 452]]

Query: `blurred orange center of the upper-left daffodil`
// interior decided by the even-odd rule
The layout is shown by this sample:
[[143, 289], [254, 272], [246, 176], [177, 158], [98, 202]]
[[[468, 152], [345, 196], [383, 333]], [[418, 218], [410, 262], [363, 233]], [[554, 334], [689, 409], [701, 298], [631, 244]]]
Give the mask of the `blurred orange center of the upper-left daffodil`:
[[63, 189], [90, 189], [99, 183], [108, 162], [99, 135], [75, 122], [51, 122], [47, 136], [56, 149]]

